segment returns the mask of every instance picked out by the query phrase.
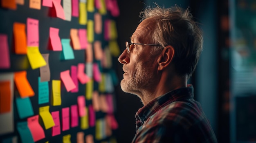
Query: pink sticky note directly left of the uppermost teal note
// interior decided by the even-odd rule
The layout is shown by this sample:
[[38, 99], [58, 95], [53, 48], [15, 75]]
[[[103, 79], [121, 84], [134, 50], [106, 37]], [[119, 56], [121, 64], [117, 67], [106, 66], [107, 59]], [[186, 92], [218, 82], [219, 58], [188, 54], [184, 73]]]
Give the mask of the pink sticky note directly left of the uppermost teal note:
[[59, 29], [50, 27], [50, 44], [53, 51], [62, 51], [61, 38], [58, 36]]

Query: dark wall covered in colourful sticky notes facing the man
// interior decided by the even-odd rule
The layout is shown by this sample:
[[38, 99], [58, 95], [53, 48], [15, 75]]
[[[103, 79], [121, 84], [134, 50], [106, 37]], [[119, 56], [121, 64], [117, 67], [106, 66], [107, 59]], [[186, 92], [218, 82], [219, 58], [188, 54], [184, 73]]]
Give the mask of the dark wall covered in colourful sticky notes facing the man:
[[0, 0], [0, 143], [117, 143], [117, 0]]

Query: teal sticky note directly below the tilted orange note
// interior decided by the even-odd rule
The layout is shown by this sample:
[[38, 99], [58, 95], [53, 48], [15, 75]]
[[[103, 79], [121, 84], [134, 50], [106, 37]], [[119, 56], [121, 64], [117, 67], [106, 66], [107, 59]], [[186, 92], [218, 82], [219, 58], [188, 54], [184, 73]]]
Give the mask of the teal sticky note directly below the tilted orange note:
[[18, 109], [18, 114], [20, 116], [20, 119], [24, 119], [26, 117], [34, 115], [34, 111], [33, 111], [29, 97], [27, 98], [16, 97], [16, 106]]

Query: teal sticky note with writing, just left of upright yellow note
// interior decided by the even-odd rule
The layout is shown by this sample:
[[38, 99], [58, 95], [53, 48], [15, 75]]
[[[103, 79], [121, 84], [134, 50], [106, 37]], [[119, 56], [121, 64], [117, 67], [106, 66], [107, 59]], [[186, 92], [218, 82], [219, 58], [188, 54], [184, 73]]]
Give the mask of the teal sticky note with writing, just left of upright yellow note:
[[41, 82], [38, 77], [38, 104], [49, 103], [49, 84], [48, 81]]

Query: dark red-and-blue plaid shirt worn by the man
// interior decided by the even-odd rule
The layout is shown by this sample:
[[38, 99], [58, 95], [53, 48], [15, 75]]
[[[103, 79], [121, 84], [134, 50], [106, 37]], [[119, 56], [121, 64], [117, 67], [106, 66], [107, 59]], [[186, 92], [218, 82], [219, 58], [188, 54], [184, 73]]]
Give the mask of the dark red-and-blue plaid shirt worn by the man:
[[136, 113], [132, 143], [217, 143], [193, 86], [157, 97]]

